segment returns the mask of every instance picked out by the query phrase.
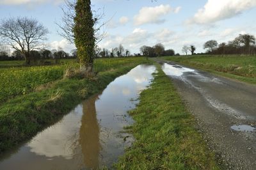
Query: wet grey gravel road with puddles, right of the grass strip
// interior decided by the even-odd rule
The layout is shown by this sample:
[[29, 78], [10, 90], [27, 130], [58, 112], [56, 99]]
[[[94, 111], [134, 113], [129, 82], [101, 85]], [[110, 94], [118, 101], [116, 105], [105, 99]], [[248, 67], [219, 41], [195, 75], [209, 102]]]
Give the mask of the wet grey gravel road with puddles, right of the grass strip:
[[256, 86], [172, 62], [162, 64], [219, 163], [228, 169], [256, 169]]

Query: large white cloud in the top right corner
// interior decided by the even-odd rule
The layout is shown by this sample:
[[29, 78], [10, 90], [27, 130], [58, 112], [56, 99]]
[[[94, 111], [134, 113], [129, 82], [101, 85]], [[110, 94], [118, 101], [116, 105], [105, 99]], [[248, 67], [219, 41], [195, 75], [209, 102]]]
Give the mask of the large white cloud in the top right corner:
[[229, 19], [256, 6], [256, 0], [208, 0], [188, 24], [212, 24]]

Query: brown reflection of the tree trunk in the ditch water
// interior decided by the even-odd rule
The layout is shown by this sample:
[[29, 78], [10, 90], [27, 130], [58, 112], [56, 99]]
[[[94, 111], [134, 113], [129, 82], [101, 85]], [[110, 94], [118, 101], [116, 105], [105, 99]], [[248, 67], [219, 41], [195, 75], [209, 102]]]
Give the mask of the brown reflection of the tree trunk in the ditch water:
[[95, 101], [98, 95], [90, 97], [83, 103], [83, 118], [80, 128], [80, 144], [86, 168], [99, 168], [100, 127], [97, 120]]

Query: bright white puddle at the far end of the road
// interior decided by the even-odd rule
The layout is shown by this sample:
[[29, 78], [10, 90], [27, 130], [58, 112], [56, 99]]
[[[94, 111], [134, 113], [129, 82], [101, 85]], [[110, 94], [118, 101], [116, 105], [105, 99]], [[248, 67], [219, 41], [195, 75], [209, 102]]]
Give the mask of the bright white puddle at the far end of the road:
[[167, 63], [164, 63], [162, 66], [162, 69], [166, 75], [173, 75], [173, 76], [181, 76], [185, 72], [195, 72], [195, 70], [190, 68], [185, 68], [182, 66], [174, 66], [174, 65], [168, 65]]

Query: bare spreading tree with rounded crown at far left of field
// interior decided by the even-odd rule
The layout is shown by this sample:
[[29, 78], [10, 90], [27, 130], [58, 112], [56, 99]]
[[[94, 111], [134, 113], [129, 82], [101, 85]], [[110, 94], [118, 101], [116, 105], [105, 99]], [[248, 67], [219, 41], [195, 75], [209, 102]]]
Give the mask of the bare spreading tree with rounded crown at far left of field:
[[6, 44], [22, 53], [26, 65], [31, 63], [30, 51], [42, 45], [48, 33], [38, 20], [27, 17], [4, 19], [0, 24], [0, 36]]

